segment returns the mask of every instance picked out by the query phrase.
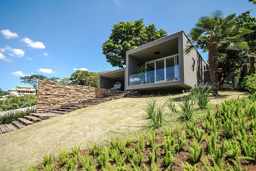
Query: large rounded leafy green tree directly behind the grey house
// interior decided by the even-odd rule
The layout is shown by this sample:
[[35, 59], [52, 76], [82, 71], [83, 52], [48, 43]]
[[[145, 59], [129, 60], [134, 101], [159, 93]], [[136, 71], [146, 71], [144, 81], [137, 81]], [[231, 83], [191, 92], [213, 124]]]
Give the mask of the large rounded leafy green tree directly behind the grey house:
[[114, 24], [109, 39], [102, 44], [102, 54], [112, 66], [123, 68], [126, 51], [167, 36], [167, 32], [156, 31], [154, 24], [143, 24], [143, 19], [135, 22], [118, 22]]

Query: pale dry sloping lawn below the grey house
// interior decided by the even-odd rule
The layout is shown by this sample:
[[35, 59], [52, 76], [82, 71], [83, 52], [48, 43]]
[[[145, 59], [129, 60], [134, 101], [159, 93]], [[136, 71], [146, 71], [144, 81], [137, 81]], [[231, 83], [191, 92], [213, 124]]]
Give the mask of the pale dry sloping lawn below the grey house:
[[[225, 99], [243, 97], [244, 92], [220, 91], [220, 98], [212, 99], [211, 104], [220, 104]], [[184, 96], [181, 95], [181, 96]], [[156, 98], [156, 97], [155, 97]], [[179, 100], [179, 95], [171, 96]], [[142, 120], [143, 106], [148, 98], [122, 98], [108, 101], [94, 107], [79, 109], [69, 114], [56, 116], [49, 120], [27, 126], [20, 130], [0, 135], [1, 170], [24, 170], [26, 165], [35, 165], [43, 160], [44, 154], [55, 153], [61, 148], [71, 149], [80, 144], [81, 149], [96, 142], [97, 146], [110, 143], [110, 137], [123, 138], [135, 132], [147, 132], [147, 122]], [[161, 103], [167, 97], [158, 97]], [[166, 113], [168, 110], [166, 109]], [[199, 119], [204, 112], [198, 113]], [[166, 114], [165, 118], [174, 127], [177, 115]], [[161, 128], [164, 130], [164, 128]]]

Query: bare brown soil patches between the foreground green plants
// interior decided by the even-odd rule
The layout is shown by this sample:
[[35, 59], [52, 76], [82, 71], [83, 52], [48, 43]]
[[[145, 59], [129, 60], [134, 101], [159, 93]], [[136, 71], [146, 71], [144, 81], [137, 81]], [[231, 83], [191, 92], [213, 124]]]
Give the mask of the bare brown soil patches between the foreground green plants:
[[[197, 123], [197, 127], [203, 129], [203, 128], [202, 128], [202, 123], [201, 123], [201, 122], [198, 122], [198, 123]], [[185, 132], [187, 132], [187, 128], [186, 128], [186, 127], [184, 128], [184, 130], [185, 130]], [[219, 131], [221, 131], [221, 130], [219, 130]], [[252, 133], [252, 128], [251, 128], [251, 126], [250, 126], [249, 130], [247, 131], [247, 134], [249, 134], [249, 132]], [[208, 132], [206, 131], [206, 133], [208, 133]], [[209, 133], [208, 133], [208, 134], [209, 134]], [[209, 134], [209, 135], [210, 135], [210, 134]], [[166, 136], [166, 134], [165, 134], [164, 132], [158, 132], [158, 133], [157, 133], [157, 136], [156, 136], [155, 144], [161, 144], [161, 143], [162, 143], [162, 138], [163, 138], [163, 136]], [[225, 138], [225, 135], [224, 135], [223, 133], [221, 133], [221, 134], [219, 134], [219, 137], [220, 137], [220, 140], [219, 140], [217, 143], [221, 146], [222, 139]], [[195, 138], [195, 137], [189, 138], [189, 136], [186, 135], [186, 139], [188, 139], [188, 144], [187, 144], [187, 145], [184, 145], [184, 146], [183, 146], [183, 149], [182, 149], [180, 152], [176, 152], [176, 153], [173, 155], [173, 156], [174, 156], [174, 159], [177, 159], [177, 160], [174, 161], [174, 163], [173, 163], [173, 170], [175, 170], [175, 171], [183, 171], [182, 163], [185, 163], [185, 162], [191, 164], [192, 166], [193, 166], [194, 164], [196, 164], [196, 163], [192, 162], [192, 161], [189, 159], [189, 156], [188, 156], [188, 153], [189, 153], [189, 147], [188, 147], [188, 146], [189, 146], [189, 141], [192, 141], [193, 138]], [[144, 153], [144, 157], [143, 157], [143, 158], [144, 158], [144, 161], [141, 162], [141, 168], [143, 168], [144, 166], [146, 166], [146, 167], [148, 168], [148, 170], [151, 170], [151, 168], [150, 168], [150, 162], [149, 162], [149, 160], [148, 160], [148, 152], [151, 152], [151, 151], [152, 151], [152, 148], [150, 148], [150, 147], [148, 147], [148, 146], [146, 145], [146, 137], [144, 137], [144, 144], [145, 144], [145, 145], [144, 145], [144, 149], [142, 150], [142, 152]], [[211, 165], [213, 166], [213, 163], [211, 162], [212, 160], [211, 160], [210, 156], [208, 155], [208, 149], [207, 149], [207, 142], [206, 142], [206, 140], [203, 140], [201, 144], [202, 144], [203, 147], [204, 147], [204, 151], [203, 151], [203, 156], [201, 157], [201, 160], [200, 160], [200, 162], [199, 162], [199, 166], [198, 166], [197, 170], [205, 170], [205, 169], [202, 168], [202, 167], [203, 167], [202, 159], [205, 159], [205, 158], [207, 158], [208, 161], [209, 161], [209, 162], [211, 163]], [[130, 148], [130, 147], [131, 147], [131, 148], [135, 149], [135, 145], [137, 145], [137, 142], [136, 142], [136, 141], [134, 141], [134, 142], [132, 142], [131, 144], [127, 145], [127, 148]], [[85, 153], [89, 153], [88, 150], [82, 150], [82, 151], [80, 152], [81, 155], [84, 155]], [[160, 171], [166, 170], [166, 167], [162, 164], [162, 157], [164, 157], [164, 155], [165, 155], [165, 151], [164, 151], [164, 148], [163, 148], [162, 146], [161, 146], [160, 148], [158, 148], [158, 153], [159, 153], [159, 156], [158, 156], [158, 159], [157, 159], [157, 161], [156, 161], [156, 164], [158, 164], [158, 163], [160, 164]], [[120, 155], [122, 155], [122, 154], [123, 154], [123, 153], [120, 153]], [[97, 158], [96, 154], [89, 153], [89, 155], [92, 155], [92, 156], [93, 156], [93, 164], [92, 164], [92, 165], [95, 166], [96, 170], [102, 170], [102, 169], [101, 169], [101, 166], [96, 162], [96, 161], [97, 161], [97, 159], [96, 159], [96, 158]], [[70, 153], [70, 156], [71, 156], [71, 153]], [[241, 155], [240, 155], [240, 157], [241, 157], [241, 156], [244, 156], [242, 150], [241, 150]], [[226, 168], [228, 168], [229, 165], [233, 165], [232, 162], [227, 162], [227, 159], [228, 159], [228, 157], [225, 157], [224, 166], [223, 166], [223, 169], [224, 169], [224, 170], [225, 170]], [[54, 162], [57, 162], [57, 170], [58, 170], [58, 171], [61, 171], [61, 170], [65, 170], [65, 169], [66, 169], [65, 166], [64, 166], [62, 163], [58, 162], [56, 159], [55, 159]], [[255, 170], [256, 170], [256, 162], [255, 162], [255, 161], [248, 161], [248, 160], [243, 160], [243, 159], [241, 159], [240, 162], [241, 162], [242, 168], [249, 168], [250, 171], [255, 171]], [[82, 165], [81, 165], [80, 161], [78, 161], [78, 164], [79, 164], [79, 166], [78, 166], [78, 169], [77, 169], [77, 170], [80, 171], [80, 170], [82, 170]], [[116, 164], [116, 163], [111, 163], [111, 164]], [[130, 166], [131, 166], [131, 162], [130, 162], [129, 160], [126, 160], [125, 165], [130, 165]], [[43, 170], [42, 164], [38, 165], [37, 168], [38, 168], [38, 170]]]

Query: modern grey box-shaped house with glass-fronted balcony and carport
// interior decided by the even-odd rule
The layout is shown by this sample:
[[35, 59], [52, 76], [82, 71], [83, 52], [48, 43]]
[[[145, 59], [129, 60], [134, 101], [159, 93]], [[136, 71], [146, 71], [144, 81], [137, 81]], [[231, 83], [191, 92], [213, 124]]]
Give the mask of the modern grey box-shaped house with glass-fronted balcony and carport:
[[[182, 30], [127, 51], [126, 68], [100, 74], [99, 87], [110, 88], [115, 82], [125, 82], [125, 90], [171, 92], [208, 82], [208, 65], [199, 52], [183, 54], [186, 41]], [[143, 65], [148, 70], [138, 73], [135, 69]]]

